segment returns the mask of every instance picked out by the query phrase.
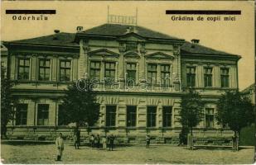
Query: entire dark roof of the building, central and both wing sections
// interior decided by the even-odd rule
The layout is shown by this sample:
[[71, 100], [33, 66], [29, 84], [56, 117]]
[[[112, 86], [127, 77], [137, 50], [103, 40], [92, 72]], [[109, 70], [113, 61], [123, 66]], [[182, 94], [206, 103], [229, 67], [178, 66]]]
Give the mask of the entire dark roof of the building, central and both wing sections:
[[[170, 35], [149, 30], [142, 26], [129, 26], [129, 25], [120, 25], [120, 24], [104, 24], [101, 26], [93, 27], [86, 31], [82, 31], [80, 33], [85, 35], [108, 35], [108, 36], [118, 37], [118, 36], [126, 35], [128, 27], [135, 27], [136, 34], [148, 39], [181, 40]], [[53, 35], [40, 36], [40, 37], [26, 39], [26, 40], [13, 40], [11, 41], [11, 43], [78, 46], [79, 43], [75, 42], [76, 35], [77, 33], [60, 32]], [[239, 58], [239, 56], [235, 54], [229, 54], [220, 50], [213, 50], [203, 45], [192, 44], [187, 41], [184, 43], [184, 45], [181, 46], [181, 53], [195, 54], [195, 55], [196, 54], [231, 55]]]

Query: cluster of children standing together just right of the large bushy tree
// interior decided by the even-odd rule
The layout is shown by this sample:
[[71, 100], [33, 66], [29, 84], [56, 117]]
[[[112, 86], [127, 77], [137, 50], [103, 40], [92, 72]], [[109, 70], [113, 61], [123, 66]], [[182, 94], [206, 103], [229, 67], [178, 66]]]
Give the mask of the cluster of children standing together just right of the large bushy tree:
[[94, 134], [91, 134], [89, 137], [89, 143], [91, 148], [98, 148], [98, 149], [101, 147], [101, 144], [103, 149], [106, 149], [107, 144], [109, 144], [109, 150], [113, 151], [114, 139], [115, 139], [115, 136], [113, 134], [107, 137], [106, 136], [100, 137], [99, 134], [97, 134], [96, 136], [94, 136]]

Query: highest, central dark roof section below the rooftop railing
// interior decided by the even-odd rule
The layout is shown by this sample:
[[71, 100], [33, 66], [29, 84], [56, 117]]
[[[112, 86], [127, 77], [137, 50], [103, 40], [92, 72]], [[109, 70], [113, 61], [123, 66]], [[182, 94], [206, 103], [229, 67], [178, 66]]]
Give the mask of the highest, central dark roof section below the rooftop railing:
[[110, 35], [110, 36], [121, 36], [127, 33], [129, 27], [135, 27], [136, 33], [145, 38], [152, 39], [165, 39], [165, 40], [181, 40], [179, 38], [162, 34], [157, 31], [152, 31], [142, 26], [130, 26], [130, 25], [120, 25], [120, 24], [104, 24], [101, 26], [93, 27], [89, 30], [82, 31], [82, 33], [87, 35]]

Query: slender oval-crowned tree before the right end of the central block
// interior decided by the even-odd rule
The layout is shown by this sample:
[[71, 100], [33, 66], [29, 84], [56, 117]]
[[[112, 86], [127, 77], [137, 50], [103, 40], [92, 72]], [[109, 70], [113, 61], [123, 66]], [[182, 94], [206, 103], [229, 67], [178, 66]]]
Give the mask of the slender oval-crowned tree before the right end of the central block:
[[198, 92], [190, 90], [181, 97], [181, 125], [188, 127], [191, 135], [193, 134], [193, 127], [196, 127], [202, 120], [204, 103]]

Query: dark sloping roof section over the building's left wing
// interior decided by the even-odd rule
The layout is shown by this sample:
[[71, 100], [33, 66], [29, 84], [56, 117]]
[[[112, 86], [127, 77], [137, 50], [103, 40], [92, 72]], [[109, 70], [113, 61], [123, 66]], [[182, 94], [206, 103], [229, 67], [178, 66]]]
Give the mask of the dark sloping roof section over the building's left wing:
[[13, 40], [12, 43], [19, 44], [41, 44], [41, 45], [67, 45], [75, 46], [78, 45], [74, 42], [75, 33], [60, 32], [54, 35], [46, 35], [26, 40]]

